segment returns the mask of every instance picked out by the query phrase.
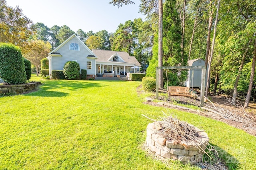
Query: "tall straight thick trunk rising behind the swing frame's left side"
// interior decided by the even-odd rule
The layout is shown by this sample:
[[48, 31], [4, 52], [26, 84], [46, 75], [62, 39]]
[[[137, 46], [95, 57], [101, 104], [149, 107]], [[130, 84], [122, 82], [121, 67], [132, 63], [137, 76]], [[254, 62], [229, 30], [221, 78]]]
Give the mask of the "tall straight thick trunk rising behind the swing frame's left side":
[[[163, 66], [163, 1], [158, 0], [158, 66]], [[159, 69], [158, 84], [164, 88], [163, 70]]]

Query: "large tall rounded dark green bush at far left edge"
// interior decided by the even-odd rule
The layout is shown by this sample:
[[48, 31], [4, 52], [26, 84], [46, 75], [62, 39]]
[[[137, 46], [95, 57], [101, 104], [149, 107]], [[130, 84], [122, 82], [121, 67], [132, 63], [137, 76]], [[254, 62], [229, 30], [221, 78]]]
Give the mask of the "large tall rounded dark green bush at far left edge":
[[20, 48], [0, 43], [0, 76], [9, 84], [24, 84], [26, 71]]

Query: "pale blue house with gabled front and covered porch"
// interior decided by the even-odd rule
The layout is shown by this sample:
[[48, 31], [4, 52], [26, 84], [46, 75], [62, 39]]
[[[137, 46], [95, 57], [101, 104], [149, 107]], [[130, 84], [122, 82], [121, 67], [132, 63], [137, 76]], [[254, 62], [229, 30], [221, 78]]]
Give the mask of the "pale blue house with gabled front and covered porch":
[[71, 35], [66, 41], [48, 54], [49, 74], [52, 70], [63, 70], [68, 61], [76, 61], [80, 69], [87, 70], [87, 79], [97, 76], [113, 77], [138, 72], [131, 67], [140, 67], [134, 56], [126, 52], [93, 49], [92, 51], [77, 37]]

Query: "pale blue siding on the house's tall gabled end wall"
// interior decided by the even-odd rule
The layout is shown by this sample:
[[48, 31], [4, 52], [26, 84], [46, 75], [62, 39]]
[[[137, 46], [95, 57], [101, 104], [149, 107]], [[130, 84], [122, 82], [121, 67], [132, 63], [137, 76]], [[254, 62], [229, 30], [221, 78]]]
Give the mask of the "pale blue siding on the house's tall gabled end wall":
[[[77, 43], [80, 46], [80, 51], [69, 50], [70, 43]], [[95, 74], [95, 59], [87, 59], [87, 56], [92, 54], [75, 37], [54, 52], [60, 53], [62, 57], [52, 57], [52, 70], [63, 70], [64, 64], [72, 60], [76, 60], [80, 64], [80, 69], [87, 70], [87, 61], [92, 61], [92, 69], [87, 70], [87, 74]]]

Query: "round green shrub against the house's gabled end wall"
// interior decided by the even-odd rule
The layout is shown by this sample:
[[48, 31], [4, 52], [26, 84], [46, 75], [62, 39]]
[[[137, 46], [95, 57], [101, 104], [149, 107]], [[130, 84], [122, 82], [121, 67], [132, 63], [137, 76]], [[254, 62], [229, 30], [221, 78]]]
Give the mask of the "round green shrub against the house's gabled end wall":
[[68, 61], [63, 68], [63, 74], [66, 79], [76, 80], [79, 78], [80, 66], [76, 61]]

